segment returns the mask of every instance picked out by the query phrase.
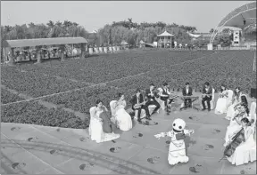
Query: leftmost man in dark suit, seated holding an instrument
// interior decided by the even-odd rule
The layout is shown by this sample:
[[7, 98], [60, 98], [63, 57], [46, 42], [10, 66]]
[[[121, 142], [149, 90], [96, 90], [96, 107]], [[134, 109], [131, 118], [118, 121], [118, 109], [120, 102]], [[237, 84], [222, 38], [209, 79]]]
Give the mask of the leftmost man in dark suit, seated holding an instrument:
[[135, 111], [137, 110], [137, 121], [141, 122], [141, 110], [145, 109], [146, 118], [150, 118], [149, 115], [149, 109], [145, 106], [146, 101], [143, 99], [143, 95], [140, 92], [140, 89], [136, 90], [136, 94], [132, 97], [130, 100], [130, 103], [132, 104], [132, 109]]

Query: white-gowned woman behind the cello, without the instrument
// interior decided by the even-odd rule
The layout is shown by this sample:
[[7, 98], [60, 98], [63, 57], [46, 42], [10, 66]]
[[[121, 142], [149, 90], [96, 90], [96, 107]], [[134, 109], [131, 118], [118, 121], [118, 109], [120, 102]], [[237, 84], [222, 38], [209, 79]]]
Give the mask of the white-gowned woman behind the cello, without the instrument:
[[245, 130], [245, 142], [236, 147], [234, 154], [228, 157], [228, 161], [236, 164], [236, 166], [256, 161], [256, 141], [253, 139], [253, 126], [246, 117], [240, 123], [241, 128]]

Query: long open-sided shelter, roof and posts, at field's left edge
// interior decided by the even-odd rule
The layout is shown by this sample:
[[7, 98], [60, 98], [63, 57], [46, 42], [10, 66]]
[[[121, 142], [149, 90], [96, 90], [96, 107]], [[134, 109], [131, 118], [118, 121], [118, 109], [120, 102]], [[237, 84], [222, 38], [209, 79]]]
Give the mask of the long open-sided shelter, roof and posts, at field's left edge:
[[[37, 39], [21, 39], [21, 40], [5, 40], [3, 43], [4, 57], [10, 58], [10, 63], [13, 64], [13, 49], [24, 47], [36, 47], [44, 45], [60, 45], [62, 48], [62, 60], [64, 60], [65, 44], [81, 44], [81, 58], [85, 57], [87, 40], [83, 37], [55, 37], [55, 38], [37, 38]], [[10, 54], [8, 54], [10, 52]], [[37, 56], [37, 62], [41, 62], [40, 53]]]

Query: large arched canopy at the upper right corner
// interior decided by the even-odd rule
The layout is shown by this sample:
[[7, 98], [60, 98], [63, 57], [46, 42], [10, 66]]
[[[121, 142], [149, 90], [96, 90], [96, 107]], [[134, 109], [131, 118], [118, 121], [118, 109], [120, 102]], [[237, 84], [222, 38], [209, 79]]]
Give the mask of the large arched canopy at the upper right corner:
[[244, 28], [248, 26], [253, 26], [253, 28], [255, 26], [256, 28], [256, 2], [245, 4], [228, 13], [213, 31], [210, 44], [212, 44], [215, 36], [217, 36], [224, 27], [240, 28], [244, 31]]

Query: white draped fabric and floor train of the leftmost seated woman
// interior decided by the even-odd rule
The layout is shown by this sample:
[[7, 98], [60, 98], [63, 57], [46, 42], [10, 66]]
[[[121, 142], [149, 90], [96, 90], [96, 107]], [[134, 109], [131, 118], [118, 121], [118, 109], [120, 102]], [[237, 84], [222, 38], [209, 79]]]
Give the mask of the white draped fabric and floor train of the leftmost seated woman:
[[96, 107], [90, 108], [90, 123], [88, 132], [91, 140], [96, 141], [96, 143], [101, 143], [104, 141], [111, 141], [112, 139], [120, 138], [120, 134], [115, 133], [104, 133], [103, 131], [103, 122], [99, 118], [99, 115], [103, 111], [97, 111]]

